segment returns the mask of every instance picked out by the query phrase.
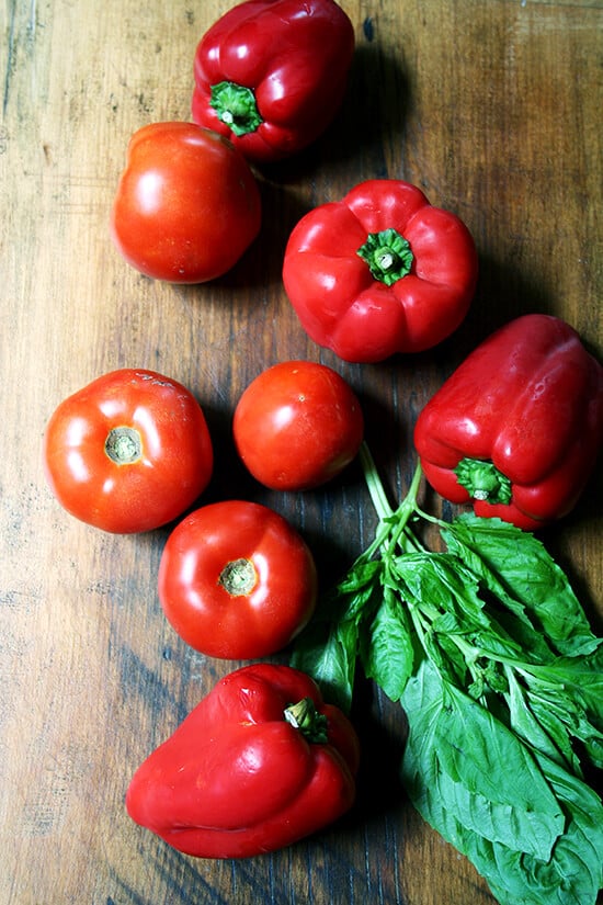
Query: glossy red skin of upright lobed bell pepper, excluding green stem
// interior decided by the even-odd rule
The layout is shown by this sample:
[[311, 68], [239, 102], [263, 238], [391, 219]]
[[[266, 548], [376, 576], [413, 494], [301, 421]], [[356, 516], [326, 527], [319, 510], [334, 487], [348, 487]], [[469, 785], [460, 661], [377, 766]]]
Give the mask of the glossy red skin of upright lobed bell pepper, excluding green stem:
[[[411, 272], [391, 286], [357, 254], [368, 234], [394, 228], [411, 247]], [[421, 352], [464, 320], [477, 281], [467, 227], [408, 182], [362, 182], [306, 214], [289, 236], [283, 282], [302, 326], [344, 361]]]

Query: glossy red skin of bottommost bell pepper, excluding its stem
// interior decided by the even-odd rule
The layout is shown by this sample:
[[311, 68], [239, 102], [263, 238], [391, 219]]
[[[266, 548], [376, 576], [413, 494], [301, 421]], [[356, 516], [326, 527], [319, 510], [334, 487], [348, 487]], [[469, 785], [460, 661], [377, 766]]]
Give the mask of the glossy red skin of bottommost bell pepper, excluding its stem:
[[[308, 743], [283, 717], [311, 698], [328, 743]], [[129, 816], [197, 858], [247, 858], [292, 845], [344, 814], [355, 797], [357, 736], [316, 683], [259, 664], [221, 679], [138, 768]]]

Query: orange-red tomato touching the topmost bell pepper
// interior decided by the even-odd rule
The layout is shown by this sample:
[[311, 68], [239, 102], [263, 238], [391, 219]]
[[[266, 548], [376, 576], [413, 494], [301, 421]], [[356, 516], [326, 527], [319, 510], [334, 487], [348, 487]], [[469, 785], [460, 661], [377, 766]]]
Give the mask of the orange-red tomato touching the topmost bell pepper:
[[194, 123], [152, 123], [132, 136], [111, 235], [140, 273], [170, 283], [215, 280], [260, 223], [255, 178], [223, 136]]

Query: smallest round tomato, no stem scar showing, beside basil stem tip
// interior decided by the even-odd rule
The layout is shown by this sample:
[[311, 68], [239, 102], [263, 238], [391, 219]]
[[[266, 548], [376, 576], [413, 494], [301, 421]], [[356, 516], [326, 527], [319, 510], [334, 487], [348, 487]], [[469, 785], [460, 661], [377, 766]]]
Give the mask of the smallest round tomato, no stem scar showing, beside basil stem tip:
[[364, 419], [355, 394], [335, 371], [289, 361], [249, 384], [235, 409], [232, 432], [257, 480], [275, 490], [307, 490], [352, 462]]

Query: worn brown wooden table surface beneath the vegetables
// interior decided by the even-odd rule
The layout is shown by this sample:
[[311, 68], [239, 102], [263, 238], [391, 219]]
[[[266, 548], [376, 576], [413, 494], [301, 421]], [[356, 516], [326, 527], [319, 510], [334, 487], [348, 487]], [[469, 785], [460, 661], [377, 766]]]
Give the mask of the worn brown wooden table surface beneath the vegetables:
[[[41, 443], [56, 405], [101, 373], [170, 375], [202, 403], [218, 451], [205, 501], [244, 496], [281, 511], [327, 584], [375, 528], [360, 467], [315, 493], [263, 490], [232, 452], [234, 405], [277, 361], [333, 366], [363, 403], [394, 496], [413, 471], [419, 409], [497, 326], [556, 314], [601, 357], [603, 9], [345, 0], [357, 38], [345, 102], [309, 150], [259, 173], [263, 227], [249, 253], [214, 283], [152, 282], [109, 236], [125, 148], [149, 122], [190, 118], [196, 44], [228, 5], [5, 0], [0, 11], [0, 903], [492, 903], [406, 801], [402, 714], [368, 685], [359, 802], [337, 826], [272, 856], [212, 862], [133, 824], [133, 771], [239, 664], [193, 653], [167, 624], [156, 575], [169, 529], [124, 538], [72, 519], [44, 483]], [[459, 214], [480, 279], [439, 350], [348, 365], [298, 326], [282, 254], [306, 211], [373, 177], [414, 182]], [[600, 490], [591, 480], [543, 538], [598, 630]]]

